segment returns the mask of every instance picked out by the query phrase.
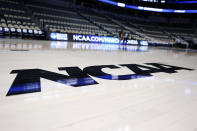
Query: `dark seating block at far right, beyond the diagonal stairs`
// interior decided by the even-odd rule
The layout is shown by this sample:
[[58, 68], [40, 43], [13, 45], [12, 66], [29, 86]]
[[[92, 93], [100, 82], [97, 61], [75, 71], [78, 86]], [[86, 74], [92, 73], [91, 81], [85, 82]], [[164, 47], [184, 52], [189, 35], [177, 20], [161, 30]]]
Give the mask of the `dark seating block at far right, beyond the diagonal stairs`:
[[111, 18], [119, 20], [126, 26], [130, 25], [125, 23], [125, 21], [130, 21], [130, 23], [132, 23], [132, 26], [130, 26], [131, 28], [135, 29], [138, 32], [144, 33], [147, 36], [156, 34], [155, 36], [151, 37], [157, 40], [174, 41], [173, 36], [179, 38], [183, 38], [183, 36], [189, 36], [191, 39], [197, 37], [195, 28], [192, 26], [193, 24], [191, 24], [191, 19], [187, 18], [168, 19], [167, 17], [161, 16], [149, 16], [148, 18], [144, 18], [112, 12], [104, 12], [104, 14]]

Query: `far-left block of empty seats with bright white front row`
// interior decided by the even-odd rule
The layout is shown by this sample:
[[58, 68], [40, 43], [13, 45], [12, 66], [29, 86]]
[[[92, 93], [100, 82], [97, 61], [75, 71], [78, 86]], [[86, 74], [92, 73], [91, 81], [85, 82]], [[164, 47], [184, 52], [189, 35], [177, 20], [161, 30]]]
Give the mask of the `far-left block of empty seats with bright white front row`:
[[5, 36], [37, 36], [42, 31], [18, 1], [0, 0], [1, 27]]

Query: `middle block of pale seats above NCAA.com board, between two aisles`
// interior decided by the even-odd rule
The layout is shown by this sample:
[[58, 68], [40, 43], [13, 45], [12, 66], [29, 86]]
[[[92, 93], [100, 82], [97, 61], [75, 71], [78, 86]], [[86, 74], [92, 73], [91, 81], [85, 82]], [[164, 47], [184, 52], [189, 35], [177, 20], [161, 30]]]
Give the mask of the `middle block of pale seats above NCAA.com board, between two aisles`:
[[33, 15], [50, 32], [107, 35], [99, 27], [81, 17], [72, 9], [56, 9], [47, 5], [27, 4]]

